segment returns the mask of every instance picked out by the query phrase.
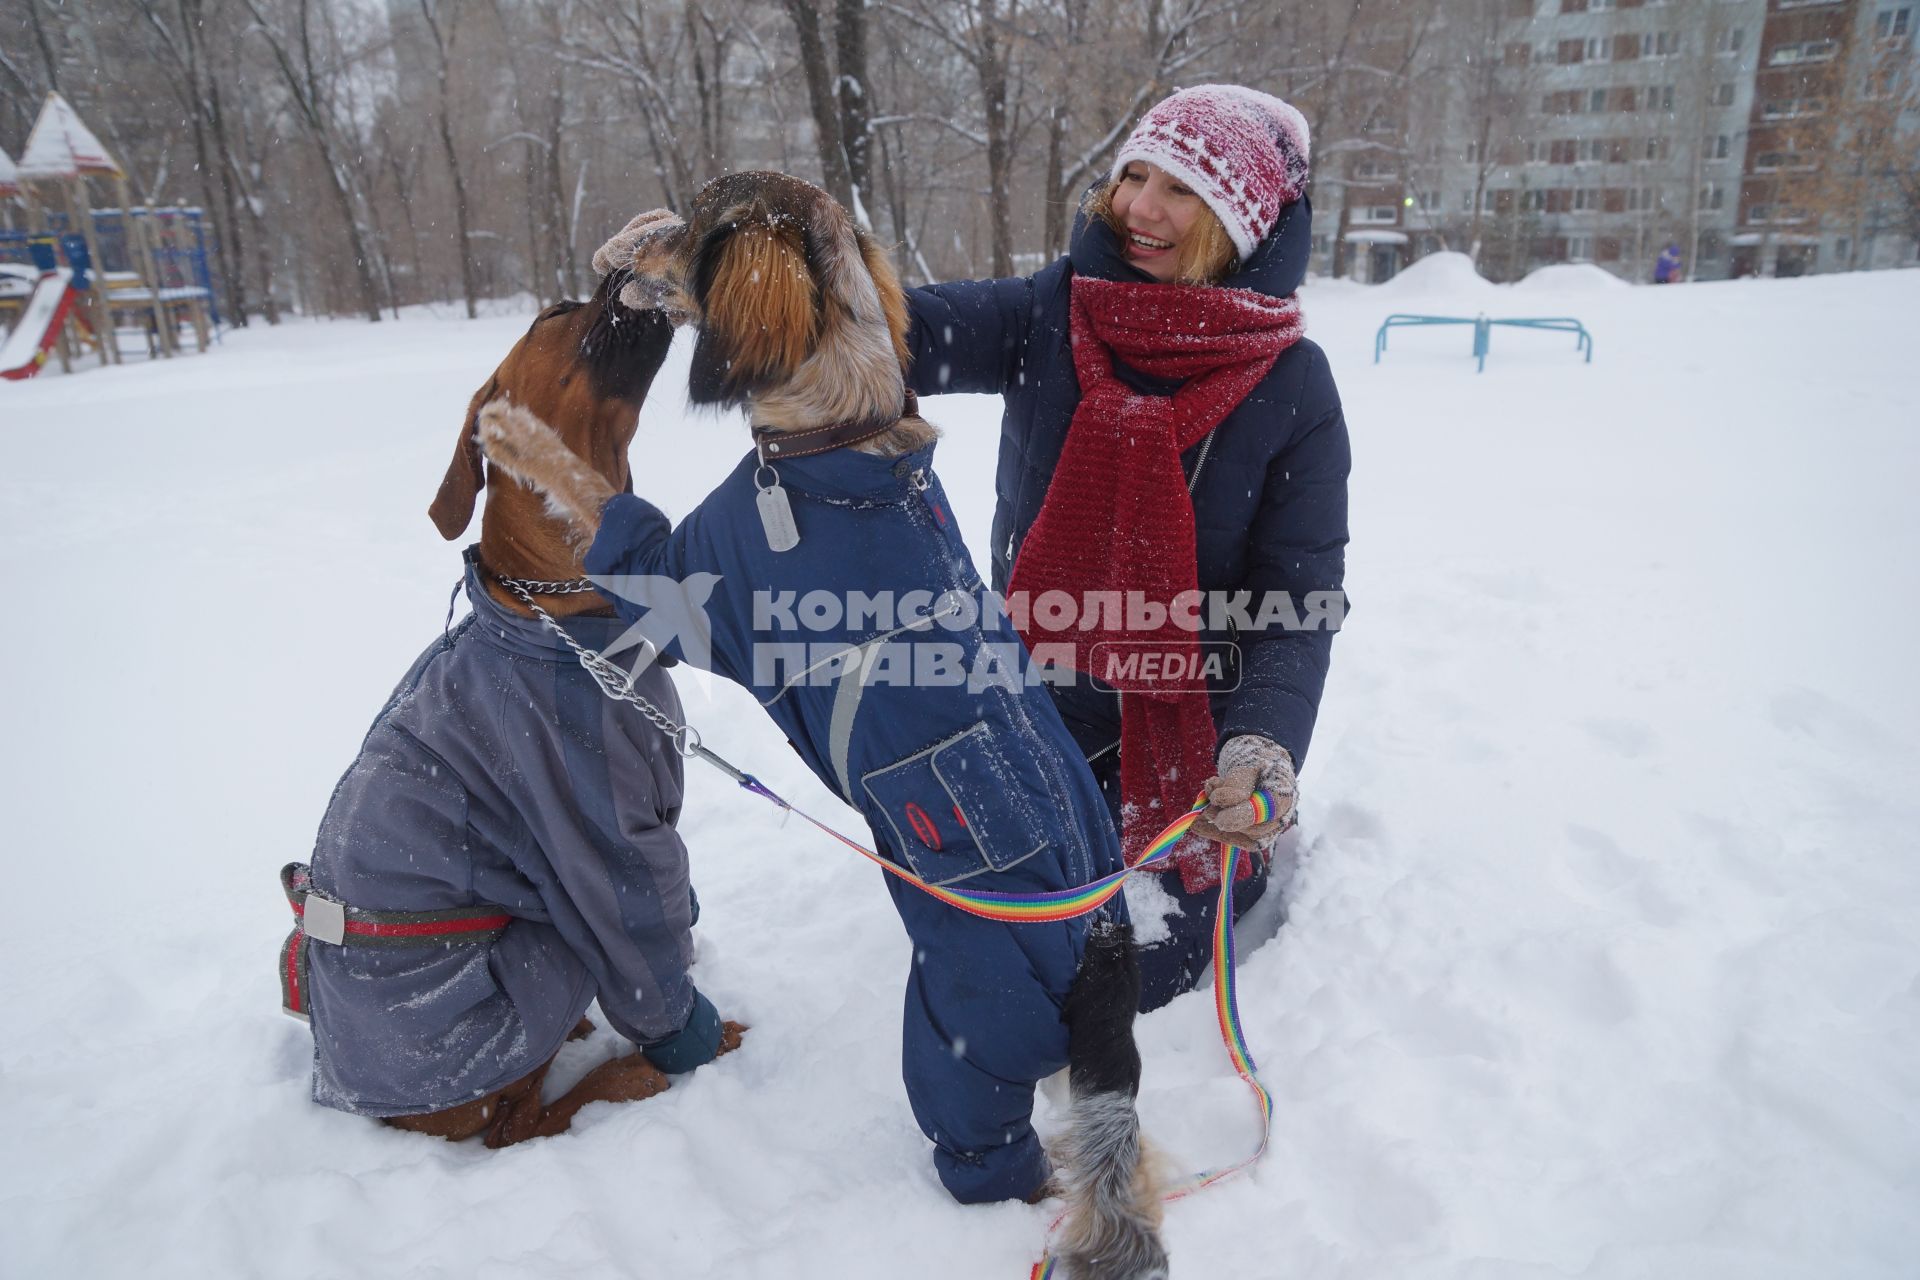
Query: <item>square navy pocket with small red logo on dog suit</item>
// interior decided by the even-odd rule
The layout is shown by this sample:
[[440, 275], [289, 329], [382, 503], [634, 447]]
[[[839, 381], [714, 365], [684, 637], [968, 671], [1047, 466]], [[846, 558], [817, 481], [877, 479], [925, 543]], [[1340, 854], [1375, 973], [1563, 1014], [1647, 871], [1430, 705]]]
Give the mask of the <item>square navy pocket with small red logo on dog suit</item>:
[[1046, 846], [1016, 808], [1016, 779], [985, 720], [860, 777], [914, 875], [952, 885], [1006, 871]]

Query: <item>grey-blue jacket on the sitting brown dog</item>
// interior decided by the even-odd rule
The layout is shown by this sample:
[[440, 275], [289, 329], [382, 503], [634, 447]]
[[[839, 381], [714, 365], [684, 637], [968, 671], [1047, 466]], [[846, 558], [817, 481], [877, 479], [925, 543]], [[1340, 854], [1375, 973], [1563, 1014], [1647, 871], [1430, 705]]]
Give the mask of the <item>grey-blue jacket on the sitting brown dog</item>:
[[[495, 906], [511, 923], [482, 942], [301, 944], [313, 1098], [342, 1111], [440, 1111], [503, 1088], [595, 996], [666, 1069], [712, 1057], [718, 1038], [687, 973], [682, 758], [540, 622], [495, 604], [470, 553], [467, 599], [472, 614], [415, 660], [334, 787], [311, 883], [349, 908]], [[626, 624], [566, 628], [607, 649]], [[680, 714], [659, 664], [636, 689]]]

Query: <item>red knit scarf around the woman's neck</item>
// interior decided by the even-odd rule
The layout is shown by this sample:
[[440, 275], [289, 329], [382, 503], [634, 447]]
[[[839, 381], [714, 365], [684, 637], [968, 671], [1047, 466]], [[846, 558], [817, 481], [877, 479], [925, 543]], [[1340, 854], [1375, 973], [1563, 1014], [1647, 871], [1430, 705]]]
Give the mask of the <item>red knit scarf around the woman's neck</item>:
[[[1069, 593], [1079, 604], [1073, 629], [1046, 629], [1043, 612], [1029, 608], [1027, 647], [1050, 645], [1060, 658], [1066, 651], [1058, 647], [1069, 645], [1075, 672], [1096, 676], [1123, 695], [1121, 844], [1127, 862], [1135, 862], [1212, 777], [1213, 714], [1200, 679], [1167, 681], [1139, 672], [1123, 677], [1108, 666], [1108, 656], [1129, 649], [1096, 654], [1094, 647], [1179, 654], [1187, 670], [1198, 670], [1200, 645], [1194, 631], [1173, 622], [1171, 608], [1156, 629], [1125, 629], [1110, 614], [1100, 614], [1092, 629], [1079, 626], [1089, 620], [1094, 593], [1117, 591], [1121, 599], [1140, 593], [1162, 606], [1181, 593], [1198, 599], [1194, 509], [1181, 453], [1233, 413], [1281, 351], [1300, 340], [1300, 299], [1089, 276], [1075, 276], [1071, 288], [1081, 401], [1008, 591], [1027, 593], [1029, 603], [1046, 591]], [[1173, 395], [1135, 391], [1114, 374], [1116, 359], [1183, 386]], [[1219, 883], [1219, 867], [1204, 844], [1175, 862], [1188, 892]], [[1242, 873], [1252, 873], [1246, 862]]]

